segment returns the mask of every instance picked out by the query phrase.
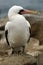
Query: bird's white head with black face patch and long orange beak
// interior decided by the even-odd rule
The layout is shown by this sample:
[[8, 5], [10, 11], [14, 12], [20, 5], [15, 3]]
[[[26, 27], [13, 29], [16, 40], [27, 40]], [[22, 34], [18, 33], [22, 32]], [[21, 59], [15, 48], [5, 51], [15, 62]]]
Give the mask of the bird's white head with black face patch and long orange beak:
[[16, 14], [20, 14], [20, 15], [22, 15], [22, 14], [37, 14], [37, 11], [26, 10], [21, 6], [14, 5], [8, 11], [8, 18], [10, 18]]

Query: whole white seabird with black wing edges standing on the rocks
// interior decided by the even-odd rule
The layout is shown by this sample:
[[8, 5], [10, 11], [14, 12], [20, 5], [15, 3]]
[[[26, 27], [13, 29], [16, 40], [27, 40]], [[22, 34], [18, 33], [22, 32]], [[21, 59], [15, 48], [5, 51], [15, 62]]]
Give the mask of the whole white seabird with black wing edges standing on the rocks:
[[[21, 6], [14, 5], [8, 11], [8, 19], [5, 25], [5, 38], [7, 44], [14, 51], [15, 48], [23, 48], [30, 39], [31, 25], [23, 14], [34, 14], [34, 11], [26, 10]], [[12, 53], [13, 53], [12, 51]]]

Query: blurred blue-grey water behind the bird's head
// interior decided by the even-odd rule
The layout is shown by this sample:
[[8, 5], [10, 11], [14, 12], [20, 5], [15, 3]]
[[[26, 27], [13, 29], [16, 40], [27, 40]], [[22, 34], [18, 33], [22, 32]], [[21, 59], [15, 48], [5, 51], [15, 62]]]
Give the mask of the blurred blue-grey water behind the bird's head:
[[13, 5], [43, 11], [43, 0], [0, 0], [0, 19], [7, 15], [8, 9]]

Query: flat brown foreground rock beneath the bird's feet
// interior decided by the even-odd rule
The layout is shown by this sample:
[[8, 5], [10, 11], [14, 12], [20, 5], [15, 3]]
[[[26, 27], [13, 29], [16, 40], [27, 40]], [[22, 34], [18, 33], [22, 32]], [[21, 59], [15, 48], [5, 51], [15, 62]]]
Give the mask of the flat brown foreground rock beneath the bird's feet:
[[24, 65], [24, 64], [36, 63], [36, 59], [32, 56], [27, 55], [12, 55], [5, 57], [5, 60], [0, 63], [0, 65]]

